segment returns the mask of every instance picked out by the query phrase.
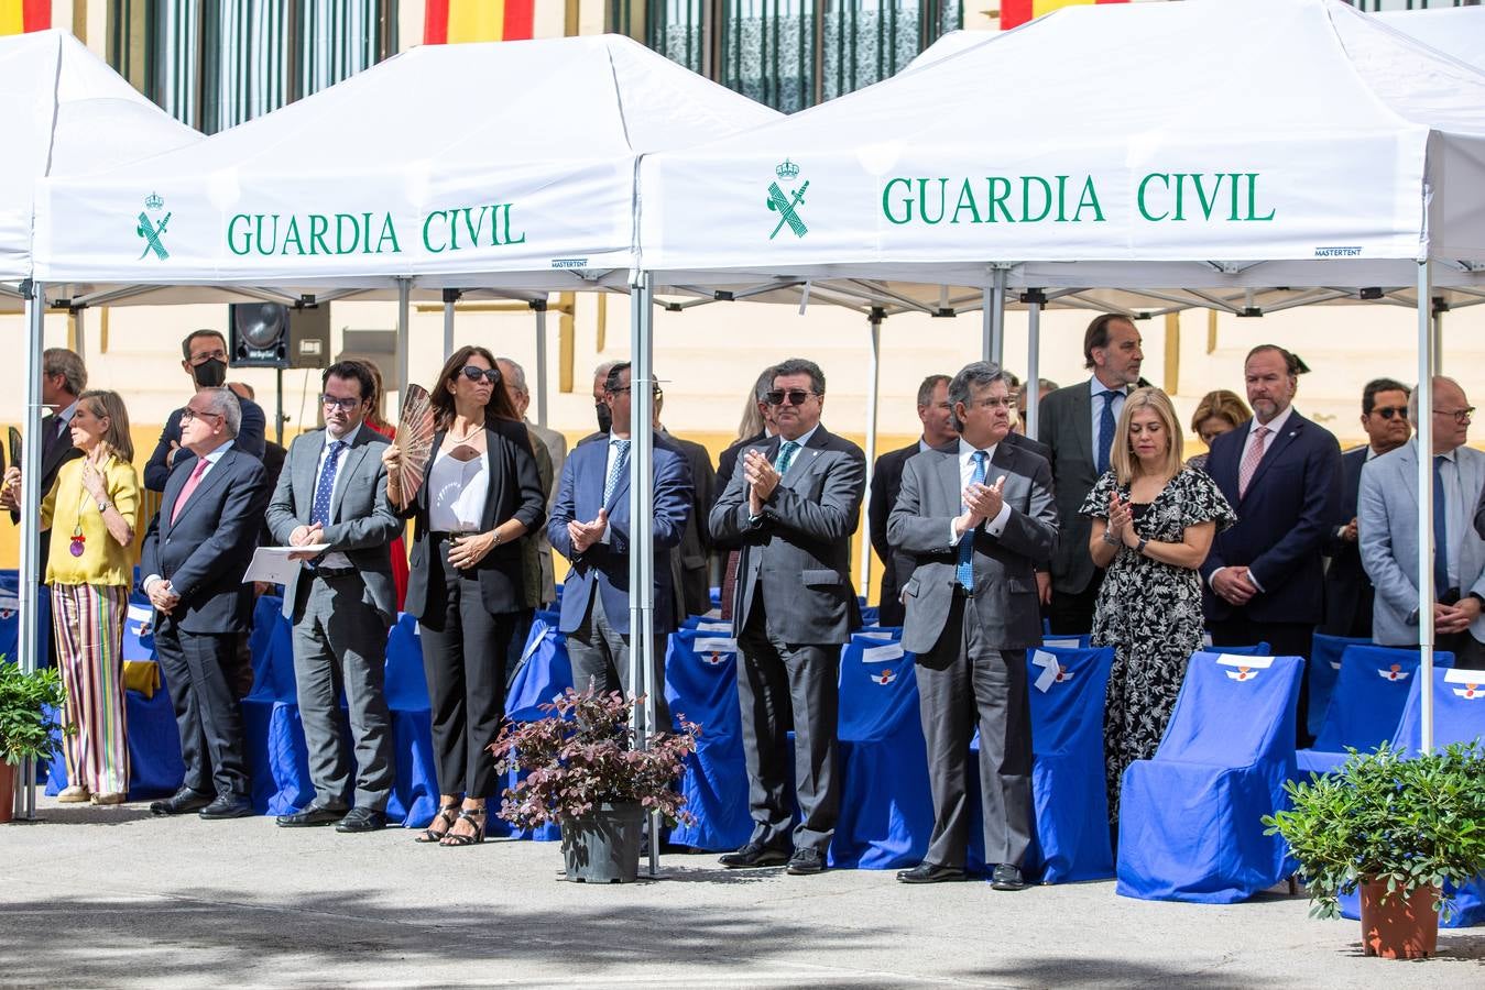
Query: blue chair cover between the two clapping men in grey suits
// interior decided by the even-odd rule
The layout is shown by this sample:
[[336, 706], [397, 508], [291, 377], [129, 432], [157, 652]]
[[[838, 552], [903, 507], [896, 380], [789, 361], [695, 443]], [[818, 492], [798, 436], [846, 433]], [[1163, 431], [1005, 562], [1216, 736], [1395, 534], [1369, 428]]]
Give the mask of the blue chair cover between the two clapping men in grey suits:
[[841, 818], [830, 865], [912, 867], [928, 852], [933, 801], [915, 658], [898, 632], [855, 634], [841, 649]]

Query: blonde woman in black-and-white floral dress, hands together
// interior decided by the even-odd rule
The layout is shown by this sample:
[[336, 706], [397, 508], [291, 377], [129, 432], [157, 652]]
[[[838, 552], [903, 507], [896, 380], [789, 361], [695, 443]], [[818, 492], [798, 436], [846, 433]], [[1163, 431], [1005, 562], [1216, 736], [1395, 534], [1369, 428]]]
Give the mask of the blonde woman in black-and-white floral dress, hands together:
[[1124, 401], [1109, 469], [1081, 512], [1093, 517], [1093, 563], [1108, 568], [1091, 643], [1114, 647], [1103, 754], [1117, 825], [1124, 767], [1154, 755], [1187, 660], [1201, 647], [1197, 567], [1237, 515], [1204, 471], [1182, 468], [1176, 410], [1160, 389], [1136, 389]]

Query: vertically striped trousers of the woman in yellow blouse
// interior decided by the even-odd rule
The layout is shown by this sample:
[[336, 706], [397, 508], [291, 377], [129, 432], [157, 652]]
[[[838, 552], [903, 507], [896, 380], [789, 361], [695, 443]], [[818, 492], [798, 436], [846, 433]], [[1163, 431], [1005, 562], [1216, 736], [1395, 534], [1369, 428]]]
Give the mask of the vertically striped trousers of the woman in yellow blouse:
[[123, 585], [52, 585], [56, 663], [67, 687], [67, 782], [94, 794], [129, 791], [123, 714]]

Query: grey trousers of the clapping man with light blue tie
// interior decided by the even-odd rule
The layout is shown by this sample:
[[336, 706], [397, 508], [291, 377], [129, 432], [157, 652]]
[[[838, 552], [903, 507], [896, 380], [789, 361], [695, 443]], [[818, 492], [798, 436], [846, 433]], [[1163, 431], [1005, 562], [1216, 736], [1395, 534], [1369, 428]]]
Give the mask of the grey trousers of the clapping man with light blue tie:
[[970, 739], [979, 723], [985, 862], [1020, 868], [1032, 824], [1026, 650], [988, 646], [979, 623], [965, 622], [964, 612], [964, 601], [956, 600], [939, 646], [918, 658], [918, 711], [928, 744], [934, 813], [924, 861], [964, 867]]

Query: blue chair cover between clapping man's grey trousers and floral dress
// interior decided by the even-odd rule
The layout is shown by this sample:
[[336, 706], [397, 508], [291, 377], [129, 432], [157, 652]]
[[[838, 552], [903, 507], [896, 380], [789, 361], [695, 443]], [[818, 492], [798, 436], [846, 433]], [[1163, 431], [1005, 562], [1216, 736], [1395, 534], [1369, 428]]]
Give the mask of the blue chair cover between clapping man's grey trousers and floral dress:
[[[1050, 656], [1059, 674], [1037, 687]], [[1103, 695], [1114, 647], [1026, 650], [1031, 699], [1032, 800], [1037, 828], [1026, 859], [1042, 883], [1114, 876], [1108, 788], [1103, 782]]]

